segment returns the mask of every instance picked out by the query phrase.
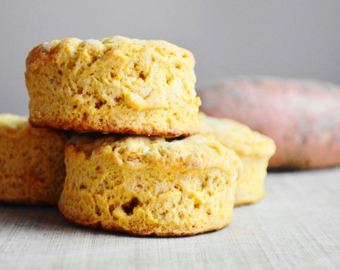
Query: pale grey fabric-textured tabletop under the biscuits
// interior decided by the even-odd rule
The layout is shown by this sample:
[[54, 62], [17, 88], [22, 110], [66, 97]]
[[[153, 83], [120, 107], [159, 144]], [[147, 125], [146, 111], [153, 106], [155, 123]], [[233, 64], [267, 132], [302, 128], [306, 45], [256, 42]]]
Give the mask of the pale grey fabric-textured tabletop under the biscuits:
[[191, 237], [75, 227], [55, 208], [0, 206], [0, 269], [340, 269], [340, 168], [270, 173], [233, 223]]

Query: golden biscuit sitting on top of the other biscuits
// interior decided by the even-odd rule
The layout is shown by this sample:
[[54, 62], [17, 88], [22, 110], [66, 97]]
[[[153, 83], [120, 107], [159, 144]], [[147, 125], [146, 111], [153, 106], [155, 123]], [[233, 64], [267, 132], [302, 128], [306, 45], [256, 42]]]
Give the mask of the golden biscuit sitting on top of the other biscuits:
[[194, 64], [190, 51], [163, 40], [42, 43], [26, 59], [30, 123], [166, 137], [197, 133]]

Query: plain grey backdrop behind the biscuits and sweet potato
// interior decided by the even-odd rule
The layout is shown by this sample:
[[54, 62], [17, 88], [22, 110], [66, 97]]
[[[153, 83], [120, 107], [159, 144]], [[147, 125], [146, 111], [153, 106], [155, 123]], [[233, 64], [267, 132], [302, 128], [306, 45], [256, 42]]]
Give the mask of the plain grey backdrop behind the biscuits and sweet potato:
[[0, 113], [28, 115], [25, 58], [51, 39], [123, 35], [191, 50], [197, 87], [225, 76], [340, 83], [340, 1], [0, 1]]

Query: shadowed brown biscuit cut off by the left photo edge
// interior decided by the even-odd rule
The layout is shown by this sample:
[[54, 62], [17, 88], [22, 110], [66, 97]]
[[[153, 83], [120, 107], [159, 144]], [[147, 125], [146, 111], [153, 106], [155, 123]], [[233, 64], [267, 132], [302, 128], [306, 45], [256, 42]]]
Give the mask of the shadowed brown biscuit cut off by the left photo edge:
[[65, 178], [65, 132], [0, 114], [0, 202], [57, 204]]

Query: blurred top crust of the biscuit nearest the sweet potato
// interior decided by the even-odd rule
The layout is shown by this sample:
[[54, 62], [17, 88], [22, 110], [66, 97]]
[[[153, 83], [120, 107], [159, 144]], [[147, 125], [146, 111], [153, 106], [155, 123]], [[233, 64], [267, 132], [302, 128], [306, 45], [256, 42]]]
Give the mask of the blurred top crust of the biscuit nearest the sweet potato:
[[209, 134], [224, 146], [244, 156], [272, 156], [276, 150], [274, 141], [231, 119], [215, 118], [199, 113], [202, 133]]

